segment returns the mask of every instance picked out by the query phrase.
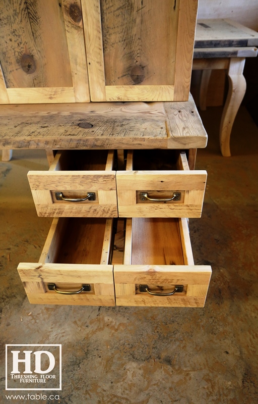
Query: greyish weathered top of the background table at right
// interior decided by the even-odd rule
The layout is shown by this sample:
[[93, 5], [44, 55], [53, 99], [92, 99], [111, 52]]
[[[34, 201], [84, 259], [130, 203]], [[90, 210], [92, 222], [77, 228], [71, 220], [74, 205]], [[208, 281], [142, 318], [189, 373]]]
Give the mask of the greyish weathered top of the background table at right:
[[195, 48], [258, 46], [258, 32], [229, 19], [197, 20]]

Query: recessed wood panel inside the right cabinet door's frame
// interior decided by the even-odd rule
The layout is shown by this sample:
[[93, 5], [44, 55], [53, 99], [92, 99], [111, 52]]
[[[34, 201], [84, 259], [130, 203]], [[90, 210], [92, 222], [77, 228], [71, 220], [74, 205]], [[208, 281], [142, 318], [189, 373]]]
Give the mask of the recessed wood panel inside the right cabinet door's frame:
[[106, 85], [174, 82], [177, 9], [170, 0], [101, 0]]

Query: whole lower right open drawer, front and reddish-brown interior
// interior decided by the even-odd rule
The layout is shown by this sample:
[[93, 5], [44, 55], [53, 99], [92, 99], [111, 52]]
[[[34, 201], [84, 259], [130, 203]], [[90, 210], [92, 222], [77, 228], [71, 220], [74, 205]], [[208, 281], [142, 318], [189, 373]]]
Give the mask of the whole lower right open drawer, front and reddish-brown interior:
[[195, 266], [187, 219], [126, 220], [123, 265], [114, 265], [117, 306], [203, 307], [210, 266]]

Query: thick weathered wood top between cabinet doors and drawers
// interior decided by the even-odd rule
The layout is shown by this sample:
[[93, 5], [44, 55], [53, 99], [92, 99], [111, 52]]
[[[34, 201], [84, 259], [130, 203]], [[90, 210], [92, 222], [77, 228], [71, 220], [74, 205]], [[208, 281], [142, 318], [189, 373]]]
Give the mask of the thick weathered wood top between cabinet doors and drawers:
[[198, 148], [207, 133], [186, 102], [3, 105], [0, 148]]

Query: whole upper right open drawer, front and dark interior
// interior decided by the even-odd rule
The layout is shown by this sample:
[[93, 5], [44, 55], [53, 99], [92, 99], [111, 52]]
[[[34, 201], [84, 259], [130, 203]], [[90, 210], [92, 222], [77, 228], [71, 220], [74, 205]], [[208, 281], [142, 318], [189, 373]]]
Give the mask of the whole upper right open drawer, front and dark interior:
[[178, 150], [130, 150], [117, 171], [118, 216], [200, 217], [206, 171], [190, 171]]

